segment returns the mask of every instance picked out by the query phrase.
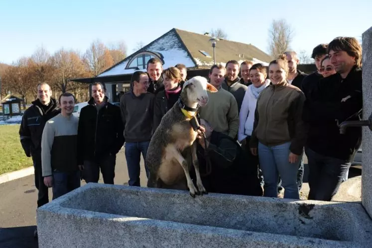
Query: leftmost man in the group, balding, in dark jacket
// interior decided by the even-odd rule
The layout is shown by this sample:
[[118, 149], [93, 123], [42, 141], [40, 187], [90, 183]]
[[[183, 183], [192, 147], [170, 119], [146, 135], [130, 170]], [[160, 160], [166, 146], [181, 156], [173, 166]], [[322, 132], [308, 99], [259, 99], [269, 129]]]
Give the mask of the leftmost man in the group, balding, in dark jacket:
[[[45, 123], [60, 113], [52, 90], [46, 83], [37, 85], [37, 98], [32, 106], [24, 111], [19, 128], [20, 142], [27, 157], [32, 157], [35, 170], [35, 186], [38, 190], [37, 207], [49, 202], [48, 188], [44, 185], [41, 173], [41, 136]], [[35, 230], [35, 236], [37, 231]]]

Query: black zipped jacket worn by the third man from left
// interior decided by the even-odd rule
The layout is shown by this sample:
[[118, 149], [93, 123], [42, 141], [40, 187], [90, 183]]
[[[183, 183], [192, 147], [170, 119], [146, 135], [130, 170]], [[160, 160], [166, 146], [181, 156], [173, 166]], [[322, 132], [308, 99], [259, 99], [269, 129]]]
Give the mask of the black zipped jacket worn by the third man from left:
[[117, 154], [124, 144], [120, 108], [108, 102], [97, 112], [94, 99], [81, 109], [78, 126], [78, 164], [100, 156]]

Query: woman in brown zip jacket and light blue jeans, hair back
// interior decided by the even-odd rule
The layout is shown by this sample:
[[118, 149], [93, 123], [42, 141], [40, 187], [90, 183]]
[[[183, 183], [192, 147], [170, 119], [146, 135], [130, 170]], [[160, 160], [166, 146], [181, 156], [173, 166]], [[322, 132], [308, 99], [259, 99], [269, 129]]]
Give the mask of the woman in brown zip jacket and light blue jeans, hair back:
[[258, 96], [249, 147], [254, 156], [259, 155], [263, 196], [277, 197], [280, 176], [284, 198], [299, 199], [297, 171], [307, 135], [302, 121], [305, 96], [288, 83], [287, 75], [285, 56], [270, 62], [271, 84]]

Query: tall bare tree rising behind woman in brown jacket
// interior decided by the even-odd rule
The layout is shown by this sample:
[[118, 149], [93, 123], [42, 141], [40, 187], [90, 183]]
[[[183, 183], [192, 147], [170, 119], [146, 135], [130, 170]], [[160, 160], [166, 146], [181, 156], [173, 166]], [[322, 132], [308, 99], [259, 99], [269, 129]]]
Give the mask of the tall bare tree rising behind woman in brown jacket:
[[277, 57], [290, 48], [294, 33], [285, 19], [273, 20], [268, 34], [271, 56]]

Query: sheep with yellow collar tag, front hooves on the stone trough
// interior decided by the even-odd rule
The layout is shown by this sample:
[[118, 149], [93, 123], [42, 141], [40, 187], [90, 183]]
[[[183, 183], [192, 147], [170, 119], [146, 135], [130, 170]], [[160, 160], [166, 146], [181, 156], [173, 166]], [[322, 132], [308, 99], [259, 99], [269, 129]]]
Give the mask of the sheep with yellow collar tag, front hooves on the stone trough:
[[[147, 150], [146, 164], [150, 174], [147, 187], [178, 190], [188, 187], [192, 197], [206, 193], [196, 156], [198, 132], [192, 122], [196, 120], [198, 107], [208, 103], [207, 90], [217, 92], [204, 77], [186, 81], [178, 102], [161, 119]], [[191, 164], [195, 168], [198, 189], [190, 178]]]

